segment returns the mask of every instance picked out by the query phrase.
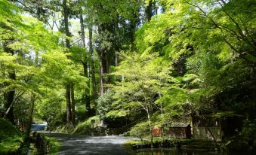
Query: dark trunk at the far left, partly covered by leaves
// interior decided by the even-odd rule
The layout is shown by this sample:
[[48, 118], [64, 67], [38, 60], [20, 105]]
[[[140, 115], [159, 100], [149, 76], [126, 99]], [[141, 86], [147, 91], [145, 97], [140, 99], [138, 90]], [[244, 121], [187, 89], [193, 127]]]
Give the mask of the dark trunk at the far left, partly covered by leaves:
[[[10, 47], [8, 47], [9, 43], [4, 44], [4, 51], [6, 53], [11, 53], [11, 55], [14, 55], [14, 51], [11, 50]], [[8, 78], [11, 80], [16, 80], [16, 73], [14, 70], [8, 71]], [[15, 89], [9, 90], [7, 93], [5, 93], [5, 109], [7, 110], [7, 113], [5, 114], [5, 117], [10, 120], [11, 123], [14, 124], [14, 96], [15, 96]]]

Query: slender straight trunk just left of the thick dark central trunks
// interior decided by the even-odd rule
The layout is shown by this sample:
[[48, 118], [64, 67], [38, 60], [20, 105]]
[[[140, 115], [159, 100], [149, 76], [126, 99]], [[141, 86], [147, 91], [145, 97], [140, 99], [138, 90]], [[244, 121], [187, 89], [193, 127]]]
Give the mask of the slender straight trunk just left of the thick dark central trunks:
[[92, 26], [89, 26], [89, 51], [91, 54], [91, 82], [92, 82], [92, 98], [94, 102], [94, 108], [97, 110], [97, 86], [96, 86], [96, 78], [95, 78], [95, 68], [94, 68], [94, 50], [92, 48]]

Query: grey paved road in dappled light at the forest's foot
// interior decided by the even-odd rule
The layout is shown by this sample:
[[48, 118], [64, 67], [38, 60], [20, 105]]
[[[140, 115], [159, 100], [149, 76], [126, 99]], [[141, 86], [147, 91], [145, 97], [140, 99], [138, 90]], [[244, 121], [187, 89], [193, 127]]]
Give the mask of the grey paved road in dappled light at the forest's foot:
[[[100, 155], [126, 155], [131, 154], [123, 147], [125, 141], [131, 140], [128, 137], [118, 135], [110, 136], [82, 136], [68, 135], [63, 133], [51, 133], [62, 143], [59, 155], [76, 155], [76, 154], [100, 154]], [[132, 150], [130, 150], [132, 151]]]

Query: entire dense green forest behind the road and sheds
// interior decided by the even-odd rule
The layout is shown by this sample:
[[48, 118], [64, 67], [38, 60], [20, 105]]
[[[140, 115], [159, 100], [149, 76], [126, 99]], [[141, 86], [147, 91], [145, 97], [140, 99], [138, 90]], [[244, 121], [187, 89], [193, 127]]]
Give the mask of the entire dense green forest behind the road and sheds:
[[254, 0], [0, 0], [0, 116], [27, 136], [231, 118], [251, 149], [255, 21]]

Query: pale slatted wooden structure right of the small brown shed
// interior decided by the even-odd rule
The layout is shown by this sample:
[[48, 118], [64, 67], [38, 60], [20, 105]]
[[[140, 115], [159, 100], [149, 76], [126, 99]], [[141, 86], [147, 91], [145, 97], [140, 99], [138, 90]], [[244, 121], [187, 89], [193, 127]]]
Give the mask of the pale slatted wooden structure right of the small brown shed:
[[211, 116], [192, 117], [193, 138], [201, 140], [221, 141], [221, 119]]

